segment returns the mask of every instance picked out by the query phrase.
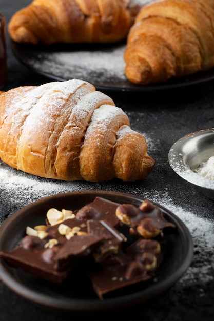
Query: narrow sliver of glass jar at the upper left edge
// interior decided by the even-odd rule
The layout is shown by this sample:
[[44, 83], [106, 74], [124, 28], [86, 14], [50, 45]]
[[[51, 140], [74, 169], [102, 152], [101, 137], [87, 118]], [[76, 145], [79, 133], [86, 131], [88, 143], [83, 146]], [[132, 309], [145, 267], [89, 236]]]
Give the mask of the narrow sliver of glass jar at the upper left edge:
[[7, 80], [5, 17], [0, 12], [0, 89]]

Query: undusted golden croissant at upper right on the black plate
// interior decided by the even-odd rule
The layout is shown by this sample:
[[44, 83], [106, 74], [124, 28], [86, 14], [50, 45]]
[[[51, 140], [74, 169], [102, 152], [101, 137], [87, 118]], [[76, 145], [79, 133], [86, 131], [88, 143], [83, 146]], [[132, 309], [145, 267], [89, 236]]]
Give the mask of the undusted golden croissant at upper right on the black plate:
[[163, 0], [142, 7], [124, 52], [135, 84], [163, 83], [214, 66], [214, 1]]

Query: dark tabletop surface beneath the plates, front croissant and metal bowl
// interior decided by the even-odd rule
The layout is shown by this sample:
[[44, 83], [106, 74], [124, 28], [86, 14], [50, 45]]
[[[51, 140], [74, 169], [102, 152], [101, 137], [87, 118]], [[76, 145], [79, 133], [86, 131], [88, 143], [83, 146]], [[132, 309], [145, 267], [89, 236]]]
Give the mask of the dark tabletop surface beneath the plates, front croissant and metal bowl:
[[[8, 23], [17, 9], [29, 3], [30, 1], [27, 0], [16, 2], [1, 0], [0, 11], [6, 16]], [[50, 81], [28, 70], [17, 61], [11, 51], [8, 34], [7, 57], [8, 81], [4, 90], [20, 85], [40, 85]], [[213, 233], [210, 229], [214, 232], [213, 200], [206, 198], [196, 186], [185, 182], [173, 172], [168, 163], [168, 151], [180, 137], [190, 132], [214, 127], [214, 81], [160, 92], [106, 91], [106, 93], [114, 99], [118, 107], [127, 112], [132, 129], [145, 133], [149, 137], [149, 154], [157, 161], [157, 165], [143, 182], [124, 183], [118, 180], [108, 183], [80, 182], [64, 184], [61, 190], [114, 190], [150, 198], [160, 204], [170, 203], [175, 210], [178, 210], [178, 215], [184, 213], [182, 219], [190, 229], [194, 245], [194, 256], [189, 269], [169, 291], [145, 306], [140, 305], [128, 311], [120, 311], [115, 315], [112, 313], [110, 317], [126, 321], [144, 319], [147, 321], [211, 321], [214, 318], [214, 255], [213, 244], [207, 246], [205, 236], [211, 237]], [[0, 186], [0, 223], [18, 208], [49, 194], [47, 191], [43, 194], [34, 194], [27, 188], [24, 194], [18, 191], [14, 193], [16, 197], [14, 194], [8, 195], [4, 186]], [[191, 213], [193, 214], [190, 215]], [[207, 224], [207, 218], [209, 224]], [[196, 222], [196, 227], [193, 226], [193, 220]], [[206, 222], [203, 225], [204, 231], [202, 225], [197, 226], [200, 222]], [[43, 311], [13, 293], [1, 281], [0, 302], [1, 321], [79, 319], [76, 315], [59, 316], [50, 311]], [[85, 320], [86, 317], [88, 316], [81, 319]], [[108, 315], [102, 316], [103, 320], [107, 318], [109, 318]], [[99, 321], [101, 316], [95, 314], [93, 319]]]

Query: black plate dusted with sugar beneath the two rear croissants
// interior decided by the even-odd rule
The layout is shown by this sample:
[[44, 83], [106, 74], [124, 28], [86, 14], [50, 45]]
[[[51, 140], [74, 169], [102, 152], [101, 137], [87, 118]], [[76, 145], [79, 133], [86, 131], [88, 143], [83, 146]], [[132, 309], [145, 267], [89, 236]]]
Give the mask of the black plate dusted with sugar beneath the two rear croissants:
[[35, 72], [55, 81], [83, 79], [99, 90], [157, 91], [186, 87], [214, 79], [214, 69], [211, 69], [163, 84], [148, 86], [132, 84], [124, 74], [124, 43], [30, 46], [12, 41], [11, 46], [18, 60]]

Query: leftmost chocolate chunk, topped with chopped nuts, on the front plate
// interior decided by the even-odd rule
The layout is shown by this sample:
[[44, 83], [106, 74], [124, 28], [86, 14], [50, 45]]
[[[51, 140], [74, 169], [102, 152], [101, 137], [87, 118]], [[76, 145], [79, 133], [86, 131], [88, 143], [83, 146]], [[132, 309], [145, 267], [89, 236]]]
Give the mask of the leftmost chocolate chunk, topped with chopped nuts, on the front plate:
[[61, 283], [75, 268], [80, 257], [91, 253], [91, 248], [101, 239], [93, 235], [74, 235], [65, 242], [59, 242], [57, 239], [27, 235], [20, 246], [11, 251], [1, 251], [0, 257], [13, 267], [49, 282]]

